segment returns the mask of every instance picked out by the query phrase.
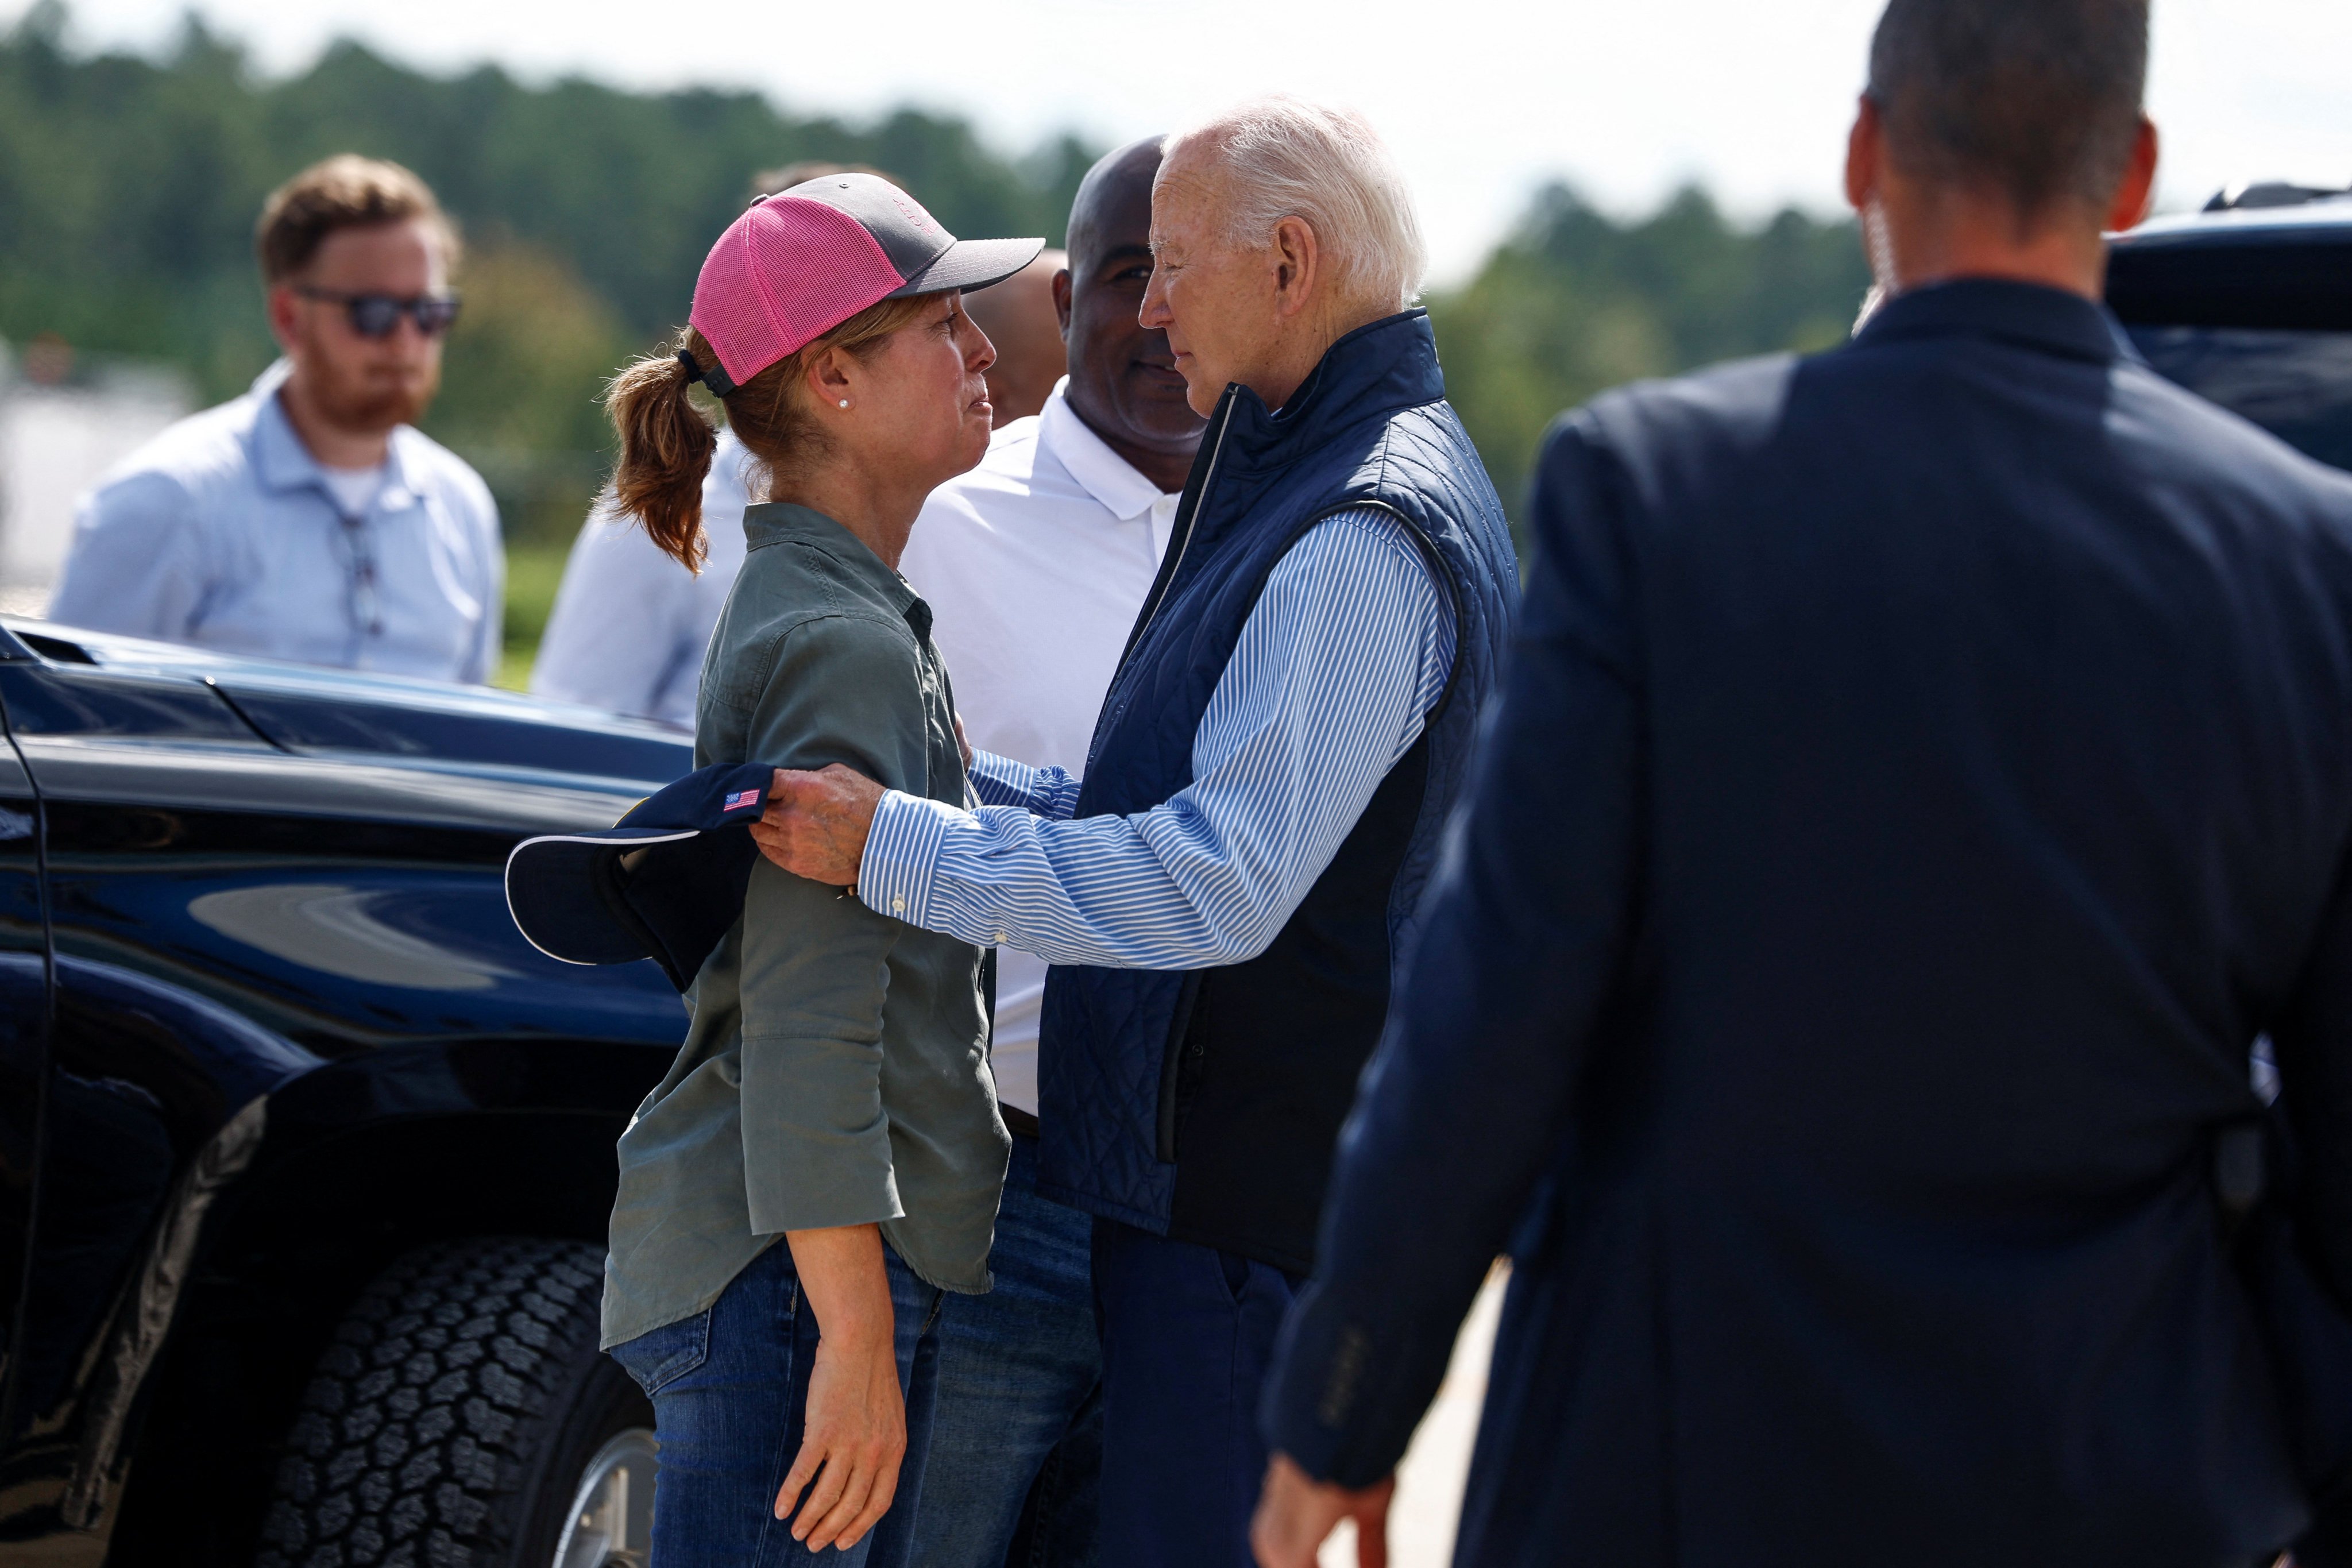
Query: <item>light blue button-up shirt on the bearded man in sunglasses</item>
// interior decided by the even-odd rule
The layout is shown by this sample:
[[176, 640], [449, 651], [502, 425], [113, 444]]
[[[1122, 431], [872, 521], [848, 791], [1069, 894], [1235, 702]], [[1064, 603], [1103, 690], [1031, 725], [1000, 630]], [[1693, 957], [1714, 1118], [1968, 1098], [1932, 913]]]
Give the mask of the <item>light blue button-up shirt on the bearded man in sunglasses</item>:
[[487, 682], [506, 552], [489, 487], [454, 451], [393, 430], [374, 503], [346, 517], [278, 402], [245, 397], [134, 451], [75, 517], [49, 618], [310, 665]]

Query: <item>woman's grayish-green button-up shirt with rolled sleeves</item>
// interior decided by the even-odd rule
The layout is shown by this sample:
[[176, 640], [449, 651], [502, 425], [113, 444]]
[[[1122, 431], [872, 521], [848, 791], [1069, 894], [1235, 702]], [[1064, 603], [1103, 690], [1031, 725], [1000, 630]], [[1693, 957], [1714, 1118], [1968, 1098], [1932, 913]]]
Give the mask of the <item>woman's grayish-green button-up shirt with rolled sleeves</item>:
[[[931, 607], [802, 505], [755, 505], [743, 534], [694, 764], [844, 762], [967, 804]], [[621, 1135], [607, 1347], [706, 1309], [788, 1229], [880, 1222], [922, 1279], [988, 1288], [1011, 1140], [978, 947], [760, 860], [687, 999], [687, 1044]]]

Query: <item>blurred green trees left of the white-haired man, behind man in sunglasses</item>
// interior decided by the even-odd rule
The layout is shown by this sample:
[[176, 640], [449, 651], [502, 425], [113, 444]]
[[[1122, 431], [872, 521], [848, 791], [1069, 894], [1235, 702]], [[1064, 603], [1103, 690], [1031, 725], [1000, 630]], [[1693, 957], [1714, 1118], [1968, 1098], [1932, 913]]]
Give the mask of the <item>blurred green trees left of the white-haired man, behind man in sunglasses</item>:
[[1049, 235], [1094, 148], [1007, 160], [955, 118], [797, 118], [750, 92], [433, 78], [362, 45], [266, 80], [193, 14], [165, 59], [85, 56], [42, 0], [0, 35], [0, 339], [186, 367], [207, 402], [273, 357], [254, 219], [282, 179], [358, 150], [416, 169], [468, 237], [466, 315], [428, 430], [473, 458], [508, 531], [579, 524], [619, 362], [684, 320], [757, 169], [889, 169], [955, 233]]

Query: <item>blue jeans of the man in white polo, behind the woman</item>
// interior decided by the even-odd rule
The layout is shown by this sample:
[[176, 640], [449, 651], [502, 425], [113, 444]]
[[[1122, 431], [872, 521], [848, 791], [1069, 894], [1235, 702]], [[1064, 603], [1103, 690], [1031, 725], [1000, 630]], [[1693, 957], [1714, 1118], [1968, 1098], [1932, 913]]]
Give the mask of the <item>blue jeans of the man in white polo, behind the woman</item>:
[[[938, 1403], [915, 1514], [922, 1568], [1094, 1568], [1103, 1349], [1094, 1222], [1037, 1197], [1037, 1140], [1014, 1135], [988, 1295], [938, 1312]], [[1025, 1505], [1025, 1507], [1023, 1507]]]

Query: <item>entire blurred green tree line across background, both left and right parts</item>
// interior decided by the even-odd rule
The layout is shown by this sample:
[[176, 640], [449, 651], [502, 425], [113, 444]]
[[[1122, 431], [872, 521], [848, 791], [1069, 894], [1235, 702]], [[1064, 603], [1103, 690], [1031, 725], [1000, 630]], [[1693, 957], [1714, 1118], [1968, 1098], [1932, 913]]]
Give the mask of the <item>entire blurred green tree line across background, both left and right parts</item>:
[[[1098, 148], [1058, 136], [1011, 158], [913, 108], [849, 125], [750, 92], [428, 75], [355, 42], [268, 78], [193, 14], [160, 56], [89, 54], [66, 7], [40, 0], [0, 35], [0, 339], [162, 360], [205, 400], [235, 395], [273, 355], [252, 259], [261, 200], [343, 150], [409, 165], [459, 219], [466, 313], [428, 430], [489, 477], [517, 550], [555, 550], [609, 461], [604, 376], [680, 320], [755, 172], [875, 165], [955, 233], [1058, 242]], [[1865, 284], [1844, 221], [1740, 226], [1698, 188], [1623, 221], [1552, 186], [1428, 303], [1449, 393], [1517, 510], [1559, 409], [1835, 343]], [[524, 597], [534, 571], [553, 581], [520, 569]], [[522, 609], [517, 632], [536, 639]]]

